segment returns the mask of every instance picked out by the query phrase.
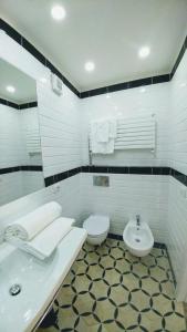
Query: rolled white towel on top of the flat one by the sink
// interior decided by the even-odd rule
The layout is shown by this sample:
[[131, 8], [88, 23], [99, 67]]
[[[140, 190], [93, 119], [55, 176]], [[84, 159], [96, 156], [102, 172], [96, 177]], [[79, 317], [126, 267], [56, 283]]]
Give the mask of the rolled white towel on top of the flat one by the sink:
[[56, 201], [48, 203], [9, 225], [4, 230], [4, 238], [8, 240], [10, 237], [18, 237], [29, 241], [59, 218], [61, 212], [62, 207]]

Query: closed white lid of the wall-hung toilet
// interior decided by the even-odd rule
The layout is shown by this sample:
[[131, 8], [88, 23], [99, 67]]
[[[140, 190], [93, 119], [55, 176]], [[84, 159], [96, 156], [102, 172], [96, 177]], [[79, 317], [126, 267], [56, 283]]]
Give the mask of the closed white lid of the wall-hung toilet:
[[110, 228], [110, 218], [107, 216], [90, 216], [83, 224], [90, 236], [100, 236]]

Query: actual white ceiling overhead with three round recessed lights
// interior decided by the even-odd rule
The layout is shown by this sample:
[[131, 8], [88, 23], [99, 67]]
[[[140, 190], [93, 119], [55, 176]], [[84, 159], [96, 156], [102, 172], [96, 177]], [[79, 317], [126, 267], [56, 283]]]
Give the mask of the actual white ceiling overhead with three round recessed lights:
[[[51, 18], [53, 4], [64, 21]], [[1, 0], [0, 12], [80, 91], [170, 72], [187, 34], [187, 0]]]

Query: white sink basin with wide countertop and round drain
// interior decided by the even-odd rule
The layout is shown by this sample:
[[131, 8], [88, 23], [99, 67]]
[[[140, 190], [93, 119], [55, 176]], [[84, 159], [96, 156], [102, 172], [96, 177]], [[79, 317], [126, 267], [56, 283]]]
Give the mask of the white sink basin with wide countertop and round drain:
[[8, 243], [0, 246], [0, 331], [34, 330], [85, 238], [84, 229], [73, 228], [46, 261]]

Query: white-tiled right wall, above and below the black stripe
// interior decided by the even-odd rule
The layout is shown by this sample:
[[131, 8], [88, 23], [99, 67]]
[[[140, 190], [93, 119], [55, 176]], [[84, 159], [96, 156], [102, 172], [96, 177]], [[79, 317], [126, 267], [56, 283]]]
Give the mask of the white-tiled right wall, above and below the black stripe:
[[[169, 163], [172, 167], [187, 175], [187, 52], [170, 83], [169, 108]], [[183, 279], [184, 262], [187, 262], [187, 187], [174, 178], [169, 180], [166, 242], [179, 282]]]

